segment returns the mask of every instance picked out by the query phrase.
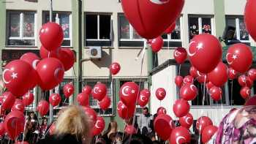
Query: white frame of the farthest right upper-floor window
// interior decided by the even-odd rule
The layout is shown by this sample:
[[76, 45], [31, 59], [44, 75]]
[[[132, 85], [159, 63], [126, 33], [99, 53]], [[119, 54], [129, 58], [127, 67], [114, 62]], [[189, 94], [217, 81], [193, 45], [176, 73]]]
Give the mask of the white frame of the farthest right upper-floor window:
[[249, 35], [249, 39], [248, 40], [241, 40], [240, 39], [240, 19], [244, 19], [244, 15], [225, 15], [225, 20], [226, 20], [226, 26], [227, 26], [227, 19], [235, 19], [235, 23], [236, 23], [236, 39], [240, 40], [243, 43], [249, 43], [251, 44], [252, 42], [252, 38], [249, 35], [249, 32], [247, 31], [248, 35]]

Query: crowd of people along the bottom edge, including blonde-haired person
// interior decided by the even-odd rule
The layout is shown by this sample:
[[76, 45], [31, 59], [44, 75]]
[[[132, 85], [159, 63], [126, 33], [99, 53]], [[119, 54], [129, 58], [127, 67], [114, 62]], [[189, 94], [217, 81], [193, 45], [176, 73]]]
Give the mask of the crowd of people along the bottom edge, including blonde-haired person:
[[[50, 126], [47, 118], [38, 119], [36, 113], [31, 112], [26, 117], [26, 126], [23, 134], [20, 134], [16, 141], [26, 141], [29, 144], [50, 144], [50, 143], [83, 143], [83, 144], [127, 144], [127, 143], [166, 143], [157, 137], [154, 132], [154, 118], [157, 114], [151, 115], [148, 107], [143, 108], [143, 113], [135, 118], [125, 120], [125, 126], [135, 127], [135, 134], [127, 134], [118, 131], [116, 121], [110, 121], [108, 128], [94, 137], [90, 137], [89, 118], [78, 106], [65, 107], [58, 113], [58, 118], [54, 121], [56, 128], [50, 134]], [[40, 121], [40, 123], [39, 123]], [[124, 128], [125, 129], [125, 128]], [[120, 129], [119, 129], [120, 130]], [[15, 143], [7, 135], [0, 137], [2, 143]], [[195, 142], [196, 143], [196, 142]]]

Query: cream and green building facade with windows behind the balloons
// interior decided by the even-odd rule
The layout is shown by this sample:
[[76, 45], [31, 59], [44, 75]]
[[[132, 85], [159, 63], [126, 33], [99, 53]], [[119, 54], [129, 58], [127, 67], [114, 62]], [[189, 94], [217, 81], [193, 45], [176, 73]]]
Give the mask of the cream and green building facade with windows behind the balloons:
[[[0, 1], [0, 37], [1, 64], [19, 58], [23, 53], [39, 53], [39, 29], [43, 23], [49, 21], [50, 0], [38, 0], [35, 2], [24, 0]], [[235, 26], [236, 36], [241, 42], [255, 45], [249, 37], [243, 23], [245, 2], [243, 0], [187, 0], [180, 18], [176, 20], [176, 29], [170, 35], [163, 35], [165, 45], [159, 53], [154, 54], [147, 47], [145, 39], [142, 39], [127, 19], [121, 9], [120, 0], [53, 0], [53, 21], [59, 23], [64, 30], [63, 48], [71, 48], [76, 54], [74, 68], [65, 73], [65, 80], [54, 89], [62, 94], [62, 86], [72, 82], [76, 86], [74, 96], [63, 99], [65, 103], [76, 103], [76, 95], [85, 85], [94, 86], [101, 81], [108, 86], [108, 95], [112, 99], [110, 109], [105, 112], [99, 110], [97, 102], [91, 99], [91, 107], [97, 113], [105, 116], [108, 124], [110, 119], [116, 119], [123, 127], [123, 120], [118, 118], [116, 103], [118, 102], [118, 90], [127, 81], [140, 83], [140, 88], [151, 88], [154, 97], [154, 88], [166, 83], [170, 92], [167, 97], [176, 96], [174, 77], [176, 72], [168, 75], [168, 82], [163, 82], [166, 77], [154, 79], [150, 74], [154, 67], [163, 64], [168, 59], [173, 59], [173, 50], [177, 47], [188, 48], [189, 39], [196, 34], [209, 33], [216, 37], [222, 36], [225, 26]], [[224, 44], [223, 44], [224, 45]], [[102, 58], [91, 59], [90, 48], [102, 49]], [[141, 63], [143, 47], [146, 48], [145, 58]], [[139, 54], [140, 53], [140, 54]], [[108, 66], [117, 61], [121, 64], [118, 75], [111, 76]], [[176, 68], [171, 68], [175, 70]], [[169, 74], [169, 73], [167, 73]], [[159, 83], [157, 82], [159, 81]], [[167, 84], [171, 83], [171, 84]], [[157, 86], [155, 86], [157, 84]], [[40, 99], [47, 98], [49, 92], [34, 88], [36, 95], [34, 110]], [[63, 96], [64, 98], [64, 96]], [[158, 105], [151, 99], [149, 106], [152, 113]], [[170, 99], [169, 99], [170, 100]], [[165, 101], [164, 101], [165, 102]], [[167, 102], [167, 101], [166, 101]], [[167, 102], [168, 113], [171, 113], [172, 103]], [[54, 114], [60, 107], [54, 107]], [[140, 108], [138, 107], [138, 111]]]

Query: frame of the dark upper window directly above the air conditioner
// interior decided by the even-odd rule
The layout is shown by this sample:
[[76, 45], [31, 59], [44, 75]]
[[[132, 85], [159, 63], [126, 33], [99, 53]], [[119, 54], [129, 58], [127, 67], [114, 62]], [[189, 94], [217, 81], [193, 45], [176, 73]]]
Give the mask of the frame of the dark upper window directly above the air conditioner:
[[[85, 19], [86, 19], [86, 15], [97, 15], [97, 39], [87, 39], [86, 34], [85, 34], [86, 41], [107, 41], [107, 42], [112, 43], [111, 34], [113, 34], [113, 31], [111, 29], [113, 28], [113, 26], [112, 26], [111, 23], [112, 23], [112, 20], [113, 20], [113, 14], [112, 13], [104, 13], [104, 12], [86, 12]], [[100, 18], [99, 18], [99, 15], [110, 15], [110, 39], [100, 39], [100, 34], [99, 34]], [[86, 20], [85, 20], [85, 29], [86, 29]]]

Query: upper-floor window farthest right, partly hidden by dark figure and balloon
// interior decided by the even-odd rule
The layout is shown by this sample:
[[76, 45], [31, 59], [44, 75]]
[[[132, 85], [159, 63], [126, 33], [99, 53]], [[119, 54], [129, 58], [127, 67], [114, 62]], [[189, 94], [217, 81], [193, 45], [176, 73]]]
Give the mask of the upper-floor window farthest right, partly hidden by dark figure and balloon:
[[249, 33], [246, 31], [243, 16], [226, 16], [226, 25], [236, 28], [236, 39], [249, 42]]

